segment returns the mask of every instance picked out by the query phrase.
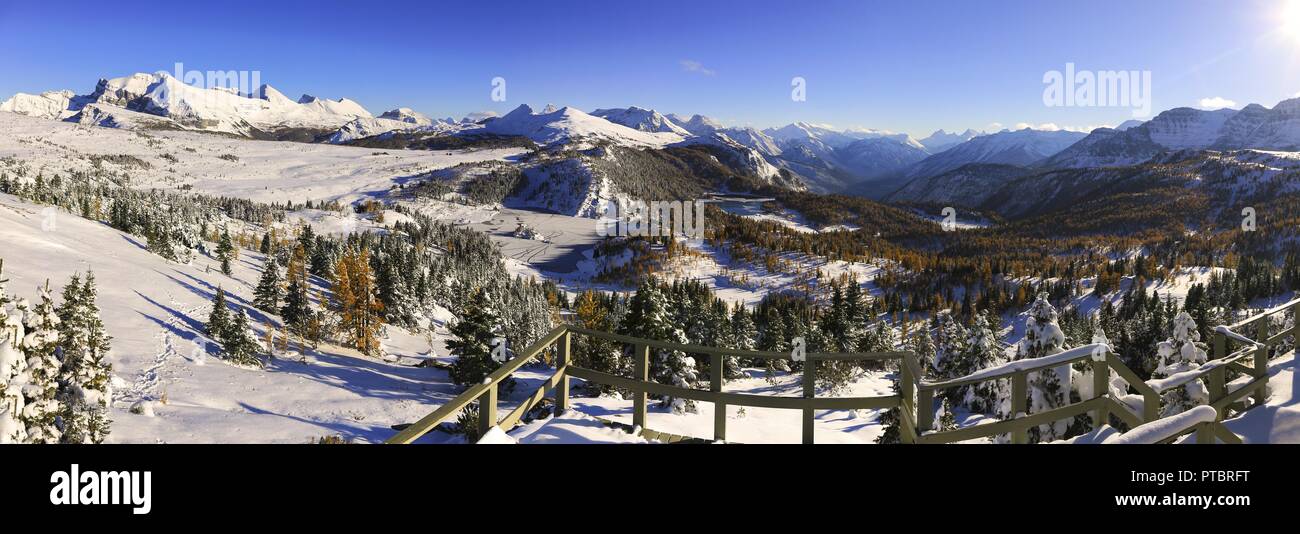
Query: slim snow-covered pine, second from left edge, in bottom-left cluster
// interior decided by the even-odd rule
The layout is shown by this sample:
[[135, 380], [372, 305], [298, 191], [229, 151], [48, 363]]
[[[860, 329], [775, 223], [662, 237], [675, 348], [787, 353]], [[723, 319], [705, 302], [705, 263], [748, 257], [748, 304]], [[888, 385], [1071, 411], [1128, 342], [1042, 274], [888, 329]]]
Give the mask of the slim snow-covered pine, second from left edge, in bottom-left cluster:
[[58, 443], [58, 313], [49, 294], [49, 281], [38, 288], [40, 303], [27, 313], [27, 385], [23, 387], [26, 407], [22, 412], [31, 443]]

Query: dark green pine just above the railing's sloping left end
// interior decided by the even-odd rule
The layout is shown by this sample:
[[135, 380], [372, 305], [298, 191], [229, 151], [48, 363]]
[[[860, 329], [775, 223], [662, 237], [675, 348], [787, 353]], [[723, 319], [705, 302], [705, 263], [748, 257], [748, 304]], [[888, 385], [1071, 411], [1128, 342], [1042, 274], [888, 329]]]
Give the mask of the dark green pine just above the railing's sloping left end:
[[[447, 340], [447, 351], [456, 357], [450, 375], [452, 382], [469, 387], [482, 383], [500, 366], [491, 359], [494, 342], [500, 339], [500, 318], [486, 290], [474, 291], [458, 316], [456, 324], [448, 329], [451, 339]], [[500, 386], [502, 391], [514, 390], [515, 381], [506, 378]]]

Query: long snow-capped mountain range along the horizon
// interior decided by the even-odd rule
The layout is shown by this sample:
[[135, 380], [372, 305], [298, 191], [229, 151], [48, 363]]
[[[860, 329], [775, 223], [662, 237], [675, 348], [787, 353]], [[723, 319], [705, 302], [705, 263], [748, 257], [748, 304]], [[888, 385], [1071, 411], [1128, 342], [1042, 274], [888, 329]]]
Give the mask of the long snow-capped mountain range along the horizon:
[[[1240, 110], [1176, 108], [1147, 122], [1091, 133], [937, 130], [924, 139], [872, 129], [794, 122], [764, 130], [724, 126], [702, 114], [604, 108], [590, 113], [520, 105], [504, 116], [430, 118], [410, 108], [373, 116], [348, 99], [289, 99], [263, 84], [250, 94], [182, 83], [166, 73], [100, 79], [87, 95], [18, 94], [0, 110], [124, 129], [214, 131], [256, 139], [350, 144], [368, 139], [528, 139], [541, 147], [638, 149], [707, 146], [737, 172], [814, 192], [944, 201], [944, 190], [997, 186], [1053, 169], [1136, 165], [1186, 149], [1300, 149], [1300, 99]], [[458, 146], [464, 142], [456, 142]], [[514, 143], [514, 142], [508, 142]], [[446, 144], [446, 143], [443, 143]], [[425, 148], [443, 144], [421, 144]], [[407, 143], [415, 148], [417, 143]], [[776, 178], [779, 178], [776, 181]], [[775, 182], [774, 182], [775, 181]], [[970, 196], [962, 196], [970, 200]]]

